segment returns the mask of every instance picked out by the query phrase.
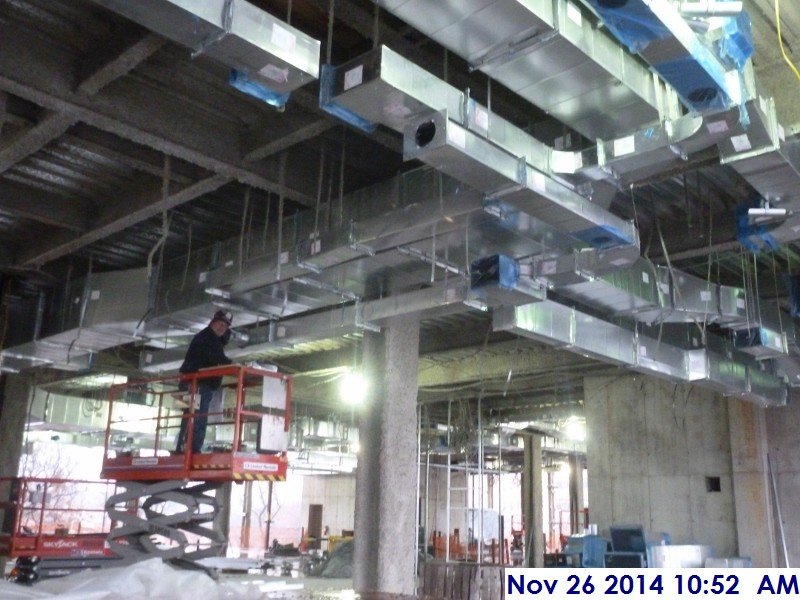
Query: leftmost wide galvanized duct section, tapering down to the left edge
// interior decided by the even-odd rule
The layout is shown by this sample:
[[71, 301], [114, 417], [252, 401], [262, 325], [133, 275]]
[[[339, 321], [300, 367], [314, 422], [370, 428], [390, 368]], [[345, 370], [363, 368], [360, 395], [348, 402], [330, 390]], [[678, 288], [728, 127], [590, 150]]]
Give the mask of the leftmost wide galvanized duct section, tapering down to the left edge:
[[41, 365], [70, 371], [91, 366], [101, 350], [142, 339], [148, 314], [147, 269], [90, 273], [64, 292], [59, 314], [37, 327], [39, 337], [0, 351], [6, 370]]

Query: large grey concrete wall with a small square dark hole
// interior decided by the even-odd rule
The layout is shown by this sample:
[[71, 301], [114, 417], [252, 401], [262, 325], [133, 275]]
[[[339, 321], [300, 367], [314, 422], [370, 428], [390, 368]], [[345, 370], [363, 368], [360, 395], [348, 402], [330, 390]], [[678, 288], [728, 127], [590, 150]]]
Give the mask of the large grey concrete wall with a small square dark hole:
[[[584, 390], [590, 522], [641, 524], [736, 556], [727, 402], [632, 374], [587, 377]], [[707, 477], [719, 492], [706, 490]]]

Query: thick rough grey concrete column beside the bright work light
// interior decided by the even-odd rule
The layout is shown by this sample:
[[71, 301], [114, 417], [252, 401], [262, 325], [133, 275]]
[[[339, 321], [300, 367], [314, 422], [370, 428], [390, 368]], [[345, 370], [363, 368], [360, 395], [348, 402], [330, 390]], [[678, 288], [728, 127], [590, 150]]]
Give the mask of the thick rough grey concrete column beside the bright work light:
[[417, 548], [419, 320], [399, 316], [366, 332], [370, 392], [359, 424], [353, 585], [412, 595]]

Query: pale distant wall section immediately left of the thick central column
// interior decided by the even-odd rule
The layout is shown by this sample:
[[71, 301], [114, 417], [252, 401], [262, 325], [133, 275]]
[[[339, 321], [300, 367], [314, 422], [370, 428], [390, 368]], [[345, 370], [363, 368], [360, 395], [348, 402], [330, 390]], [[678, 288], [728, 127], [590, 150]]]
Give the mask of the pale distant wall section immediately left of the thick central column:
[[353, 531], [356, 505], [355, 475], [308, 475], [303, 477], [302, 525], [308, 525], [308, 507], [322, 504], [322, 526], [331, 535]]

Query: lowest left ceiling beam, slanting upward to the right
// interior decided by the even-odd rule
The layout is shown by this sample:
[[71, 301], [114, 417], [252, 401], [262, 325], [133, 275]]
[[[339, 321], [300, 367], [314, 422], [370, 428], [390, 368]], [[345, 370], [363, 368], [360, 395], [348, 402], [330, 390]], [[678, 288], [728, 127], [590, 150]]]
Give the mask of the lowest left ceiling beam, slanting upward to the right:
[[66, 256], [83, 246], [157, 215], [163, 210], [170, 210], [199, 196], [213, 192], [229, 181], [222, 175], [212, 175], [170, 194], [165, 201], [161, 197], [160, 189], [148, 189], [132, 197], [127, 202], [115, 203], [95, 219], [89, 230], [82, 235], [77, 237], [73, 235], [54, 236], [44, 243], [27, 247], [20, 254], [16, 266], [38, 267], [51, 260]]

